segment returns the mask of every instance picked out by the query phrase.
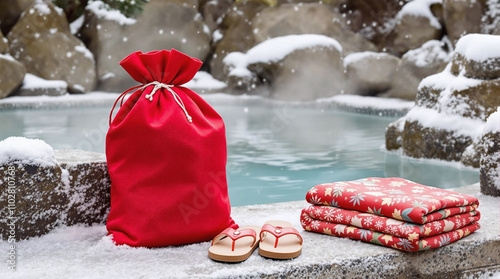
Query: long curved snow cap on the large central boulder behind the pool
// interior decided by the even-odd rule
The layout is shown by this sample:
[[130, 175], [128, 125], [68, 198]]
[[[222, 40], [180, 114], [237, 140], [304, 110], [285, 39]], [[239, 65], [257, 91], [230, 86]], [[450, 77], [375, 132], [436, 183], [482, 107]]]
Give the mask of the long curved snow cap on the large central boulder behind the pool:
[[223, 62], [232, 67], [229, 75], [244, 76], [249, 74], [246, 69], [249, 64], [279, 61], [296, 50], [318, 46], [333, 47], [342, 52], [342, 46], [337, 40], [324, 35], [288, 35], [266, 40], [247, 53], [231, 52]]

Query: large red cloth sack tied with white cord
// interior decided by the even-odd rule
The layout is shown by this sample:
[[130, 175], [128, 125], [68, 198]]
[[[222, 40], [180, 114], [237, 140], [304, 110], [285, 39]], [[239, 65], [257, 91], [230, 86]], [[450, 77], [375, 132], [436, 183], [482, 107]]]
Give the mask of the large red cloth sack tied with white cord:
[[[120, 65], [141, 85], [111, 122], [108, 234], [117, 245], [161, 247], [207, 241], [227, 227], [224, 122], [182, 87], [202, 62], [174, 49], [135, 52]], [[114, 107], [113, 107], [114, 108]]]

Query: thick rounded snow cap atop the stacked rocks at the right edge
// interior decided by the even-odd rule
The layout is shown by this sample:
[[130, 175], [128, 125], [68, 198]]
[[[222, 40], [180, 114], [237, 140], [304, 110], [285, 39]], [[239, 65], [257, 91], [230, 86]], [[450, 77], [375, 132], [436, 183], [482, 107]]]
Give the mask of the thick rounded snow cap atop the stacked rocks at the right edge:
[[468, 60], [482, 62], [489, 59], [500, 59], [499, 46], [500, 36], [468, 34], [458, 40], [455, 52], [460, 53]]

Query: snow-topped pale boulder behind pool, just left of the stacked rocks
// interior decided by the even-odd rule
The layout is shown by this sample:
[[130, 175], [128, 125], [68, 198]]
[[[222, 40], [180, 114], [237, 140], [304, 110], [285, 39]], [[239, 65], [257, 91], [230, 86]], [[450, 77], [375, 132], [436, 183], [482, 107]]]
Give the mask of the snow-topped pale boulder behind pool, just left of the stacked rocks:
[[415, 100], [423, 78], [441, 72], [450, 55], [441, 41], [431, 40], [420, 48], [406, 52], [394, 71], [390, 89], [383, 97]]

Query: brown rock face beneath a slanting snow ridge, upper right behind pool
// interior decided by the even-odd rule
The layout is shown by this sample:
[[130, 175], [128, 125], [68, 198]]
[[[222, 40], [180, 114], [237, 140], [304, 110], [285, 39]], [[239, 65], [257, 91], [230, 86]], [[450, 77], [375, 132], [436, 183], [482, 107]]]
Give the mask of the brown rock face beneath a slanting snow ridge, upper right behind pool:
[[413, 14], [404, 14], [396, 21], [392, 36], [392, 51], [404, 54], [410, 49], [419, 48], [430, 40], [441, 38], [441, 28], [433, 26], [429, 18]]

